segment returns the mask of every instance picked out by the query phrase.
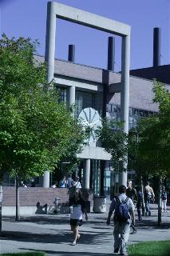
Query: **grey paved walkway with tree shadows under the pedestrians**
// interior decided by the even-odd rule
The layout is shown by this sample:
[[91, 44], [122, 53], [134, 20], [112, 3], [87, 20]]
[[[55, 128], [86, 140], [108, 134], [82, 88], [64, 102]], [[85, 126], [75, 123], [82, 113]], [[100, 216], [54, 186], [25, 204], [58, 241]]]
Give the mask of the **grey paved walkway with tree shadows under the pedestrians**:
[[[157, 209], [152, 205], [152, 216], [136, 221], [137, 233], [131, 234], [128, 244], [144, 241], [170, 240], [170, 207], [162, 215], [162, 226], [157, 226]], [[71, 246], [69, 214], [38, 215], [23, 217], [21, 222], [14, 218], [3, 218], [0, 253], [45, 251], [48, 255], [113, 255], [113, 224], [105, 224], [107, 213], [89, 214], [89, 221], [80, 228], [81, 238], [77, 246]]]

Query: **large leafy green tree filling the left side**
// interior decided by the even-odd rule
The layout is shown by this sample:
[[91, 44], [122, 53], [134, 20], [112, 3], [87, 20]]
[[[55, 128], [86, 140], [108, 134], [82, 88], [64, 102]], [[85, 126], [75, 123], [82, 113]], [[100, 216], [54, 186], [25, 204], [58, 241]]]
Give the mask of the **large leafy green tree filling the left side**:
[[80, 150], [84, 139], [69, 107], [46, 83], [45, 63], [34, 58], [37, 46], [30, 38], [3, 34], [0, 40], [0, 173], [15, 177], [17, 187], [53, 171], [70, 149]]

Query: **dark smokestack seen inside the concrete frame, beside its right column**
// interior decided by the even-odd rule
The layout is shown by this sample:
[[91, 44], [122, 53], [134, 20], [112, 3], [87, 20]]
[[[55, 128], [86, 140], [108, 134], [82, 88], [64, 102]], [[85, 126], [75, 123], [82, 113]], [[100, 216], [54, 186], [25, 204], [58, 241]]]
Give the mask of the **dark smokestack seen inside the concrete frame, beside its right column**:
[[108, 38], [108, 70], [114, 71], [115, 38]]

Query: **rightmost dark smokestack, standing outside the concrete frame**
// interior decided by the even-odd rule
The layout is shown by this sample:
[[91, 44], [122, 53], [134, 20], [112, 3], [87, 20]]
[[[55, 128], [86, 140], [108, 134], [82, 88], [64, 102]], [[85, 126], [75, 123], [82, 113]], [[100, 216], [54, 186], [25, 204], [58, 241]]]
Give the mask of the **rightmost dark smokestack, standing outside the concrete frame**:
[[153, 29], [153, 66], [160, 66], [160, 28]]

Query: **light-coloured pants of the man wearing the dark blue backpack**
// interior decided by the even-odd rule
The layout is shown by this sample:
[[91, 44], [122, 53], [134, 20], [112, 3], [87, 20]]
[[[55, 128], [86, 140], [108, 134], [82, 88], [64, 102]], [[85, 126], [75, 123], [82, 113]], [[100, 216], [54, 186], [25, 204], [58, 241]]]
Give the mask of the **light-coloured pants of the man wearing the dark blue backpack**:
[[131, 222], [115, 222], [113, 237], [114, 237], [114, 250], [120, 249], [121, 254], [127, 253], [127, 242], [130, 233]]

